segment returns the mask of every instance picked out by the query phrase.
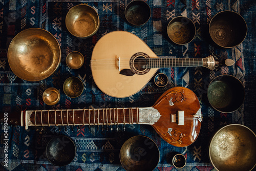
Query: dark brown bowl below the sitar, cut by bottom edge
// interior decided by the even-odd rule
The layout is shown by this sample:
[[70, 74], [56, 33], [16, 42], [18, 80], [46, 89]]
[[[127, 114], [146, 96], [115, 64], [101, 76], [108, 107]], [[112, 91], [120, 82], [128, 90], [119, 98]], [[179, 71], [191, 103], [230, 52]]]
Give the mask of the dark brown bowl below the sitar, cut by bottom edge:
[[157, 144], [146, 136], [134, 136], [124, 142], [119, 154], [125, 170], [154, 170], [160, 159]]

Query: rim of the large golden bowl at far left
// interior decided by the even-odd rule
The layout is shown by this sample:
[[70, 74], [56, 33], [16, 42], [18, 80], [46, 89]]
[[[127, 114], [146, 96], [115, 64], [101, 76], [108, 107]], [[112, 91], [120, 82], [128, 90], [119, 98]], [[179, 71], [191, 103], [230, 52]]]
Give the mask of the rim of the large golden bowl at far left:
[[[26, 80], [26, 81], [40, 81], [40, 80], [44, 80], [44, 79], [46, 79], [46, 78], [48, 78], [48, 77], [50, 77], [58, 68], [59, 68], [59, 65], [60, 65], [60, 62], [61, 62], [61, 49], [60, 49], [60, 45], [59, 45], [59, 42], [58, 42], [58, 40], [56, 39], [56, 37], [51, 33], [51, 32], [49, 32], [49, 31], [47, 31], [47, 30], [45, 30], [45, 29], [41, 29], [41, 28], [28, 28], [28, 29], [25, 29], [25, 30], [22, 30], [22, 31], [20, 31], [18, 34], [16, 34], [14, 37], [13, 37], [13, 39], [11, 40], [11, 42], [10, 42], [10, 44], [9, 44], [9, 47], [11, 47], [11, 45], [12, 45], [12, 43], [13, 43], [13, 41], [15, 41], [15, 37], [17, 37], [19, 34], [22, 34], [22, 33], [24, 33], [24, 32], [27, 32], [27, 31], [29, 31], [29, 30], [38, 30], [38, 31], [44, 31], [44, 32], [47, 32], [47, 33], [49, 33], [53, 38], [54, 38], [54, 40], [56, 41], [56, 43], [57, 43], [57, 45], [58, 45], [58, 51], [59, 51], [59, 61], [58, 61], [58, 63], [57, 63], [57, 65], [56, 65], [56, 68], [52, 71], [52, 73], [51, 74], [49, 74], [47, 77], [45, 76], [45, 77], [40, 77], [39, 79], [37, 78], [37, 79], [25, 79], [23, 76], [18, 76], [15, 72], [13, 72], [13, 69], [12, 69], [12, 67], [11, 67], [11, 65], [9, 65], [10, 66], [10, 69], [12, 70], [12, 72], [17, 76], [17, 77], [19, 77], [20, 79], [24, 79], [24, 80]], [[8, 47], [8, 50], [7, 50], [7, 60], [9, 61], [10, 59], [9, 59], [9, 48]], [[57, 55], [56, 55], [57, 56]]]

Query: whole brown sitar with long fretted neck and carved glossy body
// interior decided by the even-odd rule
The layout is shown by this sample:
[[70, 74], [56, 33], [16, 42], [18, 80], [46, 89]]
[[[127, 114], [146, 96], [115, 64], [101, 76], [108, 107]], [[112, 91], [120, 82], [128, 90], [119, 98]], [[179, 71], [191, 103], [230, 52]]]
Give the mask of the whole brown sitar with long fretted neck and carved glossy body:
[[[6, 117], [1, 116], [1, 120]], [[169, 144], [183, 147], [198, 137], [202, 122], [200, 103], [195, 93], [175, 87], [164, 92], [147, 108], [27, 110], [8, 114], [8, 123], [25, 126], [114, 126], [152, 125]]]

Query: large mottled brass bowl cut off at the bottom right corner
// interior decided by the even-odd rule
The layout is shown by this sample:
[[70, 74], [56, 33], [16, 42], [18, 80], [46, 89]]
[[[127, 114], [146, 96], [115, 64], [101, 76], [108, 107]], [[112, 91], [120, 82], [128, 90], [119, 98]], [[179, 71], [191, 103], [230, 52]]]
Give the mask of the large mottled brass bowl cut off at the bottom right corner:
[[256, 165], [256, 135], [246, 126], [230, 124], [211, 139], [209, 158], [219, 171], [252, 170]]

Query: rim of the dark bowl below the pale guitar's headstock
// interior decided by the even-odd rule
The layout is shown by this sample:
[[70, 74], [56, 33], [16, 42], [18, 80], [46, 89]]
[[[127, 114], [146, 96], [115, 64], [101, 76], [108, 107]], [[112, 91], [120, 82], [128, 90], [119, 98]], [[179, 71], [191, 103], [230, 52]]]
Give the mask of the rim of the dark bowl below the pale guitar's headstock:
[[[231, 77], [231, 78], [233, 78], [234, 80], [237, 80], [237, 81], [239, 81], [239, 82], [241, 83], [241, 86], [243, 87], [243, 94], [244, 94], [244, 96], [243, 96], [243, 101], [241, 102], [241, 105], [239, 105], [239, 107], [238, 107], [236, 110], [233, 110], [233, 111], [231, 111], [231, 112], [224, 112], [224, 111], [221, 111], [221, 110], [217, 109], [214, 105], [211, 104], [211, 102], [210, 102], [210, 100], [209, 100], [209, 98], [208, 98], [208, 88], [209, 88], [210, 84], [211, 84], [212, 82], [216, 81], [216, 79], [218, 79], [219, 77]], [[209, 85], [208, 85], [208, 87], [207, 87], [207, 99], [208, 99], [210, 105], [212, 106], [212, 108], [214, 108], [214, 109], [215, 109], [216, 111], [218, 111], [218, 112], [222, 112], [222, 113], [232, 113], [232, 112], [235, 112], [235, 111], [237, 111], [239, 108], [241, 108], [241, 106], [242, 106], [243, 103], [244, 103], [244, 100], [245, 100], [245, 89], [244, 89], [244, 85], [243, 85], [243, 83], [242, 83], [237, 77], [235, 77], [235, 76], [233, 76], [233, 75], [229, 75], [229, 74], [222, 74], [222, 75], [219, 75], [219, 76], [217, 76], [217, 77], [214, 77], [214, 78], [210, 81], [210, 83], [209, 83]]]

